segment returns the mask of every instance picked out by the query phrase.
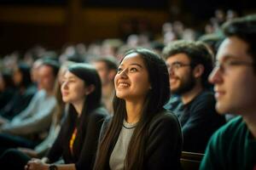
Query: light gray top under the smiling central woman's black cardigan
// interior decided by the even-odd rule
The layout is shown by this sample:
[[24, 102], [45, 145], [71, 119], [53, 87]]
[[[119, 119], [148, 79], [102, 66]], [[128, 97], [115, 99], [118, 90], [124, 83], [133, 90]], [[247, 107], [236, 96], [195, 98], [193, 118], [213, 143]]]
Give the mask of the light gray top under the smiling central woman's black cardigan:
[[131, 136], [137, 123], [123, 122], [123, 127], [119, 133], [119, 139], [114, 145], [113, 151], [109, 159], [109, 167], [112, 170], [124, 169], [125, 156]]

